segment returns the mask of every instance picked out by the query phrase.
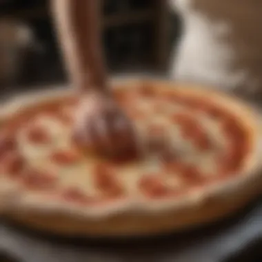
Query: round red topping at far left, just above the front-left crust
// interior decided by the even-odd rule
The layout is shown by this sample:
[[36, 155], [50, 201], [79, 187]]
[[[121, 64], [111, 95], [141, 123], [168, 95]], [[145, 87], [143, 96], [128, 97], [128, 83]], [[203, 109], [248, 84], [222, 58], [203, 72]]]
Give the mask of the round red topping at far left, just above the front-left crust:
[[10, 152], [4, 157], [2, 162], [3, 172], [10, 177], [17, 177], [23, 171], [25, 161], [20, 154]]

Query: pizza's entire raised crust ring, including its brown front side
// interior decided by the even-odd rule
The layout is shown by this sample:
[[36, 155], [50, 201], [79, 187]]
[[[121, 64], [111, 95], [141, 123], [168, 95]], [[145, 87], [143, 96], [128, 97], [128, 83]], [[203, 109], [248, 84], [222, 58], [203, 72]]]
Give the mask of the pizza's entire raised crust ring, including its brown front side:
[[[141, 82], [142, 81], [142, 82]], [[6, 217], [19, 221], [32, 228], [59, 234], [114, 236], [158, 233], [168, 230], [188, 228], [200, 223], [213, 221], [235, 212], [261, 193], [262, 176], [260, 171], [261, 130], [260, 115], [241, 101], [227, 97], [214, 90], [179, 85], [168, 81], [145, 79], [114, 82], [116, 88], [136, 88], [141, 83], [152, 83], [164, 90], [176, 88], [188, 96], [201, 99], [214, 99], [215, 103], [234, 114], [248, 130], [250, 144], [254, 145], [252, 154], [246, 157], [241, 174], [234, 179], [223, 181], [205, 190], [191, 192], [186, 197], [170, 201], [132, 201], [123, 199], [94, 209], [83, 208], [61, 201], [45, 201], [34, 195], [12, 198], [6, 205], [0, 205]], [[52, 90], [20, 97], [3, 107], [1, 119], [4, 122], [17, 108], [63, 99], [70, 96], [70, 90]], [[41, 97], [40, 97], [41, 96]], [[1, 203], [1, 186], [0, 186]], [[14, 211], [16, 210], [16, 211]]]

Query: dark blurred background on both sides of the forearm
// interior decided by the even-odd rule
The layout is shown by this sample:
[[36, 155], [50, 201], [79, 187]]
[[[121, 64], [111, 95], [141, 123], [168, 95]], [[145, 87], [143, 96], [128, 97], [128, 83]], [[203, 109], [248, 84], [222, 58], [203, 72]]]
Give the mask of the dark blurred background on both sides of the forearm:
[[[0, 0], [1, 85], [23, 88], [66, 81], [48, 2]], [[167, 1], [103, 0], [102, 11], [110, 71], [165, 72], [180, 28]]]

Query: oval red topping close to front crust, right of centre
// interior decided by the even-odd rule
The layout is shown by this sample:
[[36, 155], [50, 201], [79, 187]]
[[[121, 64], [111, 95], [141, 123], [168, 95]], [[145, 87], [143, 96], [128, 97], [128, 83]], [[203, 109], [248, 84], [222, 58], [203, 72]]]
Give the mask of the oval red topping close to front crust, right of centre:
[[139, 181], [139, 188], [144, 194], [154, 199], [168, 196], [171, 193], [170, 188], [164, 185], [159, 177], [154, 177], [154, 175], [143, 177], [141, 181]]

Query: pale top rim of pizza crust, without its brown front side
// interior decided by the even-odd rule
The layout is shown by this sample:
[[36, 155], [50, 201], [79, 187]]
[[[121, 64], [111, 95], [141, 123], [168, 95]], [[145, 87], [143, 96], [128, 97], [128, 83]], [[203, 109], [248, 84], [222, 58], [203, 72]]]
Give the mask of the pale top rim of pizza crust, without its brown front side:
[[[75, 203], [61, 203], [61, 201], [43, 201], [41, 197], [35, 197], [35, 194], [23, 194], [19, 189], [19, 185], [10, 183], [0, 183], [0, 208], [3, 213], [12, 214], [13, 210], [17, 212], [45, 213], [45, 214], [64, 214], [72, 217], [82, 217], [85, 221], [88, 219], [98, 219], [107, 217], [121, 216], [121, 214], [158, 214], [172, 210], [172, 214], [178, 214], [181, 210], [192, 209], [205, 205], [210, 199], [220, 199], [222, 202], [227, 199], [244, 194], [247, 188], [251, 188], [261, 179], [261, 174], [258, 172], [261, 168], [259, 162], [259, 154], [261, 150], [261, 135], [260, 126], [257, 121], [259, 114], [250, 107], [245, 106], [241, 101], [232, 99], [227, 95], [221, 94], [214, 90], [207, 90], [203, 87], [195, 85], [187, 85], [180, 83], [170, 83], [163, 80], [148, 80], [148, 79], [131, 79], [113, 81], [115, 88], [135, 88], [137, 85], [148, 83], [155, 88], [163, 90], [172, 90], [176, 88], [176, 92], [186, 94], [189, 97], [201, 97], [201, 99], [212, 99], [216, 105], [223, 107], [232, 113], [241, 124], [249, 130], [250, 145], [252, 145], [252, 153], [245, 157], [245, 165], [241, 172], [236, 177], [232, 177], [226, 181], [221, 181], [215, 185], [201, 188], [201, 191], [194, 190], [188, 193], [183, 198], [179, 199], [161, 199], [160, 201], [151, 201], [150, 199], [141, 201], [141, 199], [119, 199], [112, 201], [110, 204], [103, 206], [94, 206], [83, 209], [83, 206], [78, 206]], [[30, 95], [24, 95], [11, 102], [3, 105], [0, 119], [4, 123], [5, 119], [12, 117], [17, 109], [25, 109], [45, 101], [63, 99], [70, 97], [71, 90], [59, 88], [57, 90], [48, 90], [44, 92], [36, 92]], [[193, 211], [192, 211], [193, 212]]]

